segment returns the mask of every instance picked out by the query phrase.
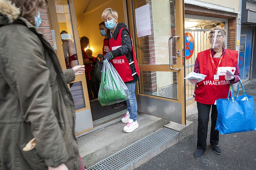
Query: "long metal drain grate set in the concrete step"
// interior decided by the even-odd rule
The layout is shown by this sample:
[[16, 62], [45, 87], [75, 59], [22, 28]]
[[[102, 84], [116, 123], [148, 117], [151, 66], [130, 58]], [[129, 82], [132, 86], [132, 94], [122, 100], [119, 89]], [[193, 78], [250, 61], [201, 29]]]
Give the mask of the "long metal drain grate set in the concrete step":
[[178, 132], [174, 130], [161, 128], [103, 161], [89, 167], [87, 170], [124, 169], [140, 157], [143, 157], [153, 149], [166, 143], [177, 134]]

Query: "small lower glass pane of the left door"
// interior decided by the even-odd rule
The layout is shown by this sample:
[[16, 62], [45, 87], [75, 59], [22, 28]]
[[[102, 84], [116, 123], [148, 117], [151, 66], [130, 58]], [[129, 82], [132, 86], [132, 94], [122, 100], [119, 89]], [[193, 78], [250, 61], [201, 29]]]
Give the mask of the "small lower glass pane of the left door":
[[85, 98], [83, 92], [82, 81], [70, 83], [70, 91], [75, 103], [75, 110], [85, 108]]

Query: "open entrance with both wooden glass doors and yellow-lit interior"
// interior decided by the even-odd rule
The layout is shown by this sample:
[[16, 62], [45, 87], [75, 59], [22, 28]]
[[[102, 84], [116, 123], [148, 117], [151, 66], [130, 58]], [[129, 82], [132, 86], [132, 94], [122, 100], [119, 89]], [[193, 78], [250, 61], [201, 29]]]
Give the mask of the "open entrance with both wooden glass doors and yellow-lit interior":
[[[152, 34], [138, 37], [135, 10], [148, 4]], [[83, 64], [82, 36], [89, 38], [88, 48], [93, 56], [101, 54], [104, 39], [99, 30], [99, 23], [103, 21], [101, 14], [106, 8], [115, 9], [118, 22], [124, 22], [131, 33], [139, 64], [141, 76], [135, 88], [138, 111], [185, 124], [183, 0], [47, 0], [47, 6], [51, 29], [55, 30], [56, 53], [63, 69], [70, 68], [65, 56], [71, 54], [63, 50], [62, 40], [74, 43], [73, 64]], [[62, 31], [66, 31], [66, 35], [61, 36]], [[76, 92], [73, 98], [78, 104], [76, 134], [126, 113], [126, 104], [117, 110], [112, 106], [102, 107], [97, 99], [89, 100], [85, 74], [72, 83], [71, 91]]]

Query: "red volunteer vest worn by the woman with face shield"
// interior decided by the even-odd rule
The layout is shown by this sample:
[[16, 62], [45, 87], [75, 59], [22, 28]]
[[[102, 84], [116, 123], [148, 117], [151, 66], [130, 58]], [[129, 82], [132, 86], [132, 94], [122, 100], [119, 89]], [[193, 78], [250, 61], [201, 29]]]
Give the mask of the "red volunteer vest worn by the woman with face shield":
[[233, 74], [235, 73], [238, 51], [226, 49], [217, 69], [217, 74], [219, 75], [218, 82], [214, 81], [214, 74], [216, 74], [215, 67], [217, 67], [218, 62], [215, 62], [214, 67], [210, 58], [210, 51], [205, 50], [199, 52], [197, 59], [200, 73], [207, 76], [203, 81], [197, 83], [198, 87], [195, 92], [195, 101], [210, 105], [214, 104], [215, 100], [227, 98], [230, 81], [225, 80], [226, 70]]

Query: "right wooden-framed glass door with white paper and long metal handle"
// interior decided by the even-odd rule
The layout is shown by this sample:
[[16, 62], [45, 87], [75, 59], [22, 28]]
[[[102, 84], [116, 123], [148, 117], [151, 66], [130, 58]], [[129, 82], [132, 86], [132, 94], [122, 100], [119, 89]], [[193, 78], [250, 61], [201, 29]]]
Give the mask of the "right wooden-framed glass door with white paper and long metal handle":
[[138, 111], [185, 124], [184, 2], [129, 0], [128, 4], [140, 70]]

